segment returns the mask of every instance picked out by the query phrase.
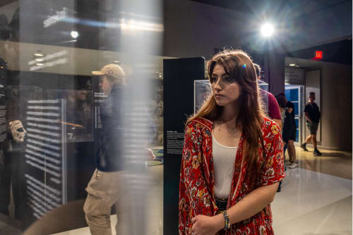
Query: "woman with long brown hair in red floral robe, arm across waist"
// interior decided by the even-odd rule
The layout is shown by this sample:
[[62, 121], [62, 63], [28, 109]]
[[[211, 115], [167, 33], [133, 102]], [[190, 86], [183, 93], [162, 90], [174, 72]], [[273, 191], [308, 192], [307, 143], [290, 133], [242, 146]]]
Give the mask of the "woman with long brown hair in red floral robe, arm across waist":
[[270, 203], [285, 177], [282, 138], [265, 118], [241, 50], [208, 61], [212, 93], [186, 121], [179, 234], [273, 234]]

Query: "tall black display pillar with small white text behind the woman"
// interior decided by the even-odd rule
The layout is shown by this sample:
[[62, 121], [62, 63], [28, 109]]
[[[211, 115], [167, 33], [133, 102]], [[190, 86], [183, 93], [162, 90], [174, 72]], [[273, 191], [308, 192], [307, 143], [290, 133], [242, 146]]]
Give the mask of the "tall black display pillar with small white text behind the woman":
[[163, 234], [178, 234], [179, 175], [184, 125], [193, 114], [193, 81], [205, 79], [205, 59], [164, 59]]

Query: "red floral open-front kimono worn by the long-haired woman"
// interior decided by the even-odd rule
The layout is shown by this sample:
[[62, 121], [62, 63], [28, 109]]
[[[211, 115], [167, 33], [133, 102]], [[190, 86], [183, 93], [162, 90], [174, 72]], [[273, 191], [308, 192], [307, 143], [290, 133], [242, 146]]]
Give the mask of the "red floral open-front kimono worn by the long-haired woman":
[[[179, 234], [191, 234], [191, 219], [196, 215], [217, 215], [212, 126], [213, 121], [197, 118], [191, 121], [185, 130], [179, 184]], [[243, 156], [246, 140], [241, 135], [227, 208], [237, 204], [241, 198], [256, 188], [276, 183], [285, 177], [282, 137], [277, 124], [264, 118], [262, 133], [265, 147], [259, 147], [258, 150], [261, 172], [257, 179], [246, 171], [247, 162]], [[232, 224], [227, 234], [274, 234], [270, 205], [249, 219]]]

